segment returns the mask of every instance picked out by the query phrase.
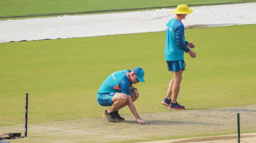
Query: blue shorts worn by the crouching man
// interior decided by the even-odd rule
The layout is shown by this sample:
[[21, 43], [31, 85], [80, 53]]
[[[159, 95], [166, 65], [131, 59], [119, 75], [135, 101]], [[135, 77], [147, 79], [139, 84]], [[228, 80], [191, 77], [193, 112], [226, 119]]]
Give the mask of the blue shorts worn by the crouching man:
[[101, 106], [111, 106], [114, 102], [112, 101], [112, 97], [115, 95], [116, 93], [104, 93], [104, 94], [97, 94], [97, 100], [98, 103]]

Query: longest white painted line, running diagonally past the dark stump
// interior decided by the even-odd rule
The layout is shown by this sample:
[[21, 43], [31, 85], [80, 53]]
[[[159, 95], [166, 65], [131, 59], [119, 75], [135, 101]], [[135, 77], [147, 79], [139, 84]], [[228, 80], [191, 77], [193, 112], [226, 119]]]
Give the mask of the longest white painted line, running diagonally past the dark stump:
[[[0, 122], [5, 124], [14, 124], [14, 123], [6, 123], [6, 122]], [[17, 124], [22, 125], [22, 124]], [[56, 128], [47, 128], [47, 127], [39, 127], [39, 126], [32, 126], [31, 127], [38, 127], [38, 128], [45, 128], [45, 129], [52, 129], [52, 130], [60, 130], [60, 131], [67, 131], [67, 132], [79, 132], [79, 131], [72, 131], [72, 130], [63, 130], [63, 129], [56, 129]], [[99, 133], [91, 133], [91, 132], [79, 132], [79, 133], [87, 133], [87, 134], [95, 134], [95, 135], [105, 135], [105, 134], [99, 134]], [[112, 136], [112, 137], [122, 137], [122, 138], [131, 138], [131, 139], [142, 139], [142, 138], [132, 138], [132, 137], [125, 137], [125, 136], [116, 136], [116, 135], [105, 135], [105, 136]], [[154, 139], [142, 139], [142, 140], [154, 140]], [[156, 141], [156, 140], [154, 140]]]

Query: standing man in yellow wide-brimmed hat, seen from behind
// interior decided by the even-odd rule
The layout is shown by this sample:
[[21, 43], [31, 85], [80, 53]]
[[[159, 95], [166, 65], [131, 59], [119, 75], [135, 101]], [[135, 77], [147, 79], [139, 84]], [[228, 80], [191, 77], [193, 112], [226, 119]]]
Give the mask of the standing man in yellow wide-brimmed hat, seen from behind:
[[168, 106], [168, 109], [185, 109], [185, 106], [181, 106], [177, 102], [182, 72], [185, 71], [186, 67], [184, 51], [189, 53], [192, 58], [196, 57], [196, 53], [188, 49], [188, 47], [191, 49], [195, 48], [195, 45], [193, 42], [185, 41], [184, 25], [181, 21], [192, 12], [193, 9], [188, 9], [188, 5], [178, 5], [177, 9], [172, 11], [172, 13], [176, 14], [175, 17], [170, 19], [166, 25], [164, 56], [168, 71], [172, 71], [173, 78], [169, 83], [167, 95], [162, 104]]

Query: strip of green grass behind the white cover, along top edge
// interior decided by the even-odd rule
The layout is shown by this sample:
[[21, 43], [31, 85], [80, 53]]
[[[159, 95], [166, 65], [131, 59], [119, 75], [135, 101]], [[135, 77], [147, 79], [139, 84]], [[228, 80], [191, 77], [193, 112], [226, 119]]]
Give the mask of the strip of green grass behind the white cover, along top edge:
[[256, 0], [1, 0], [0, 17], [54, 15], [72, 12], [115, 11], [152, 7], [176, 7], [179, 4], [204, 5], [256, 2]]

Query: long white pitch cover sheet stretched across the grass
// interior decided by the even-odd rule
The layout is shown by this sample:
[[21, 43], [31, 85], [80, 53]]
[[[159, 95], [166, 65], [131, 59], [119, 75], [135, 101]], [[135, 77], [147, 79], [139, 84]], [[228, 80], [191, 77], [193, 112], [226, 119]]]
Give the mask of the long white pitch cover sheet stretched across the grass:
[[[256, 3], [189, 7], [185, 28], [256, 24]], [[174, 9], [0, 21], [0, 43], [165, 31]]]

